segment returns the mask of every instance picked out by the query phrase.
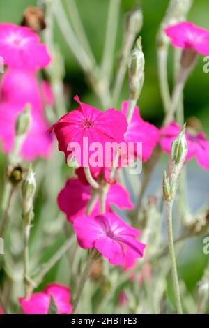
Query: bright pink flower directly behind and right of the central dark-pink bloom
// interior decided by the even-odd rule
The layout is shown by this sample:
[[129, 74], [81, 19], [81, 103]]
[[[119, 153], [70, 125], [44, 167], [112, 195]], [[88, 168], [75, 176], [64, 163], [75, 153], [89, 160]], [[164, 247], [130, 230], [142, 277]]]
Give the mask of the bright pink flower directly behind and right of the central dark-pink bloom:
[[[124, 101], [122, 104], [122, 113], [126, 115], [127, 113], [128, 102]], [[138, 149], [134, 147], [134, 155], [141, 158], [142, 161], [147, 161], [157, 142], [160, 140], [160, 131], [153, 126], [153, 124], [149, 124], [148, 122], [141, 119], [139, 116], [139, 107], [134, 108], [134, 113], [132, 115], [132, 119], [127, 128], [127, 132], [125, 133], [125, 141], [126, 142], [134, 142], [135, 145], [137, 142], [142, 143], [142, 156], [141, 151], [137, 151]]]

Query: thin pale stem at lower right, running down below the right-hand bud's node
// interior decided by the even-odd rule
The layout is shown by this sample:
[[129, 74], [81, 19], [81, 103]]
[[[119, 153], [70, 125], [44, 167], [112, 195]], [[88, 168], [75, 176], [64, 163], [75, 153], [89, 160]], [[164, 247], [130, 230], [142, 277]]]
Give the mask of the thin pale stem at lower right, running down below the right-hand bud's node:
[[169, 255], [171, 260], [171, 274], [173, 280], [173, 290], [176, 300], [176, 308], [178, 314], [183, 314], [183, 309], [180, 301], [180, 289], [178, 284], [178, 272], [176, 267], [176, 256], [174, 251], [173, 244], [173, 223], [172, 223], [172, 209], [173, 209], [173, 201], [166, 202], [166, 215], [167, 215], [167, 234], [168, 234], [168, 242], [169, 242]]

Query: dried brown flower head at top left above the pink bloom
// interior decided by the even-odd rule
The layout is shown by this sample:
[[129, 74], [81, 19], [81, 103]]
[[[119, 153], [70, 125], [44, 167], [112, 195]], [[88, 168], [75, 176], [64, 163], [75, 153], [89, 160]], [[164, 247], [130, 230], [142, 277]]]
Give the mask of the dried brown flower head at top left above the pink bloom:
[[39, 33], [45, 29], [45, 14], [40, 8], [28, 7], [24, 10], [22, 18], [22, 26], [30, 27], [33, 31]]

